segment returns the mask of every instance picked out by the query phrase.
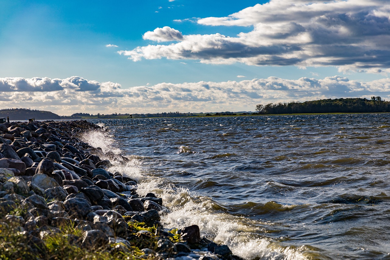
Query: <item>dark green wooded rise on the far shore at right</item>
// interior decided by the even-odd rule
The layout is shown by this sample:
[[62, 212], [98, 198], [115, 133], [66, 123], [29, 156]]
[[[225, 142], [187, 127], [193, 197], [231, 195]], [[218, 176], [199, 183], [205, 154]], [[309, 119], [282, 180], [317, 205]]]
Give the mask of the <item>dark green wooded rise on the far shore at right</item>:
[[314, 101], [269, 103], [257, 105], [258, 114], [320, 114], [390, 112], [390, 102], [380, 96], [367, 98], [337, 98]]

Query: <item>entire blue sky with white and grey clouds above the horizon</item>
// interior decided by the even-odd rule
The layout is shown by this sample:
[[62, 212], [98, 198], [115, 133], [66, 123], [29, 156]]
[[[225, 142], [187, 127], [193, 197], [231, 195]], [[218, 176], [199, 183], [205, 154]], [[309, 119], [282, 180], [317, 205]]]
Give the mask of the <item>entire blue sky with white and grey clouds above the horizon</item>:
[[0, 0], [0, 109], [390, 100], [388, 0]]

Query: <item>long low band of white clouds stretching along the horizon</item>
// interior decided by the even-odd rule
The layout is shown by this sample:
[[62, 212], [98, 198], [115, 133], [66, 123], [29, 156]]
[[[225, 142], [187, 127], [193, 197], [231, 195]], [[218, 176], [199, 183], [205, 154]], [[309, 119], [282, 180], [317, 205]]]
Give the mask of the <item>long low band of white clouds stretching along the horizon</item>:
[[76, 112], [254, 111], [257, 104], [321, 98], [381, 96], [389, 100], [389, 91], [389, 78], [357, 82], [340, 76], [160, 83], [128, 89], [118, 83], [100, 83], [76, 76], [65, 79], [0, 78], [0, 107], [27, 107], [60, 115]]

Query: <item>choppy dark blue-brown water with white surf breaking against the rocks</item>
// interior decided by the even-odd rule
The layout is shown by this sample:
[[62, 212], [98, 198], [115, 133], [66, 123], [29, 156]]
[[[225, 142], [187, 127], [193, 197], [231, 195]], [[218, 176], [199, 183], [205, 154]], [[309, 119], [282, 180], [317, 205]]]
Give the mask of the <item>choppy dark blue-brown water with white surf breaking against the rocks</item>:
[[166, 227], [246, 259], [390, 259], [390, 114], [94, 122], [112, 140], [85, 138], [132, 159], [115, 170], [164, 199]]

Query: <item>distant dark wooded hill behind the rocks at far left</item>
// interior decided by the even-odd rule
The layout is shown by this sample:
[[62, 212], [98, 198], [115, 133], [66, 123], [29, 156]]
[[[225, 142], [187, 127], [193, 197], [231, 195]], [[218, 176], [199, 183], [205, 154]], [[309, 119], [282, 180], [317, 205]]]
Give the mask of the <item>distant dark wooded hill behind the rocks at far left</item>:
[[35, 120], [60, 119], [61, 117], [50, 111], [31, 110], [31, 109], [0, 109], [0, 118], [9, 120], [26, 120], [35, 118]]

